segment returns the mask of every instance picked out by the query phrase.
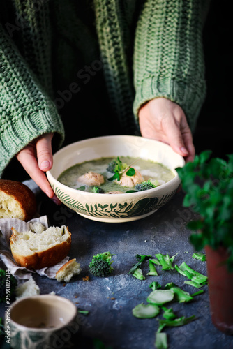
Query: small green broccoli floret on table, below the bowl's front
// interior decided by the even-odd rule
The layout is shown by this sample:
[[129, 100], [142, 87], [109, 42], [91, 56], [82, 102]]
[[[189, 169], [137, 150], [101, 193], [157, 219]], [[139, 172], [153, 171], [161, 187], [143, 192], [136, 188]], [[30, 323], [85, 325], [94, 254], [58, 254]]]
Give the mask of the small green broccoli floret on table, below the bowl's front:
[[89, 264], [89, 271], [94, 276], [107, 276], [114, 270], [111, 266], [112, 263], [112, 253], [98, 253], [97, 255], [93, 255], [91, 263]]

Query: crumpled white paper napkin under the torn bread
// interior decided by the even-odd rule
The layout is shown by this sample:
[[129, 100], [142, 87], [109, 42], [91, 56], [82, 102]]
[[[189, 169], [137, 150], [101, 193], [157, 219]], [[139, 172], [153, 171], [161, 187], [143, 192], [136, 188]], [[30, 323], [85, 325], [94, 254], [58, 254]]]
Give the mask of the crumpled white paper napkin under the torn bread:
[[41, 216], [38, 218], [33, 218], [31, 221], [24, 222], [17, 218], [1, 218], [0, 219], [0, 258], [6, 267], [10, 270], [10, 273], [15, 276], [18, 283], [24, 283], [31, 278], [31, 273], [36, 272], [40, 276], [47, 276], [50, 279], [55, 279], [55, 274], [57, 271], [69, 260], [66, 256], [61, 262], [57, 263], [52, 267], [47, 267], [38, 270], [29, 270], [25, 267], [19, 267], [10, 252], [10, 236], [12, 234], [11, 227], [15, 228], [18, 232], [24, 232], [31, 230], [29, 223], [39, 222], [45, 225], [45, 229], [48, 228], [47, 216]]

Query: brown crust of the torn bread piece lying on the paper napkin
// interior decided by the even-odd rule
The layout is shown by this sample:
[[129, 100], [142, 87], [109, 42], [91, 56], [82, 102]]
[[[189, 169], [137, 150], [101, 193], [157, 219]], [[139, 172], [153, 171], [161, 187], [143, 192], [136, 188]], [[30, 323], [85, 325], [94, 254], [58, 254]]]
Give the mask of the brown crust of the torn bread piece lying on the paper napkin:
[[[68, 230], [68, 228], [66, 227]], [[19, 255], [14, 251], [14, 243], [17, 240], [17, 232], [15, 228], [11, 228], [13, 234], [10, 237], [10, 248], [13, 258], [17, 265], [20, 267], [26, 267], [27, 269], [42, 269], [45, 267], [52, 267], [61, 262], [70, 251], [71, 245], [71, 233], [68, 230], [68, 238], [66, 241], [61, 242], [55, 246], [48, 248], [45, 251], [34, 252], [31, 255]]]

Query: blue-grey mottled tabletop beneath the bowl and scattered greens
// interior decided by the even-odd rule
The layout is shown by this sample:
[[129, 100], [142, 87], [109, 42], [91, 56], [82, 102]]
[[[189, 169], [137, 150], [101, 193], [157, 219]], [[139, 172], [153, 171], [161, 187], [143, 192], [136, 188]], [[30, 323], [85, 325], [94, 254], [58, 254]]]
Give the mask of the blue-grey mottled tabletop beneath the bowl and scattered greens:
[[[137, 319], [132, 309], [140, 303], [146, 303], [151, 292], [149, 285], [158, 281], [162, 287], [174, 282], [183, 290], [192, 294], [197, 289], [183, 284], [187, 280], [174, 271], [162, 271], [157, 267], [158, 276], [146, 276], [148, 262], [142, 269], [146, 279], [140, 281], [128, 274], [130, 267], [137, 261], [135, 255], [155, 255], [168, 253], [176, 255], [174, 264], [185, 261], [190, 267], [206, 275], [206, 263], [192, 258], [193, 246], [188, 237], [190, 231], [186, 223], [195, 215], [182, 207], [183, 193], [177, 193], [172, 200], [155, 214], [140, 221], [128, 223], [97, 223], [83, 218], [63, 205], [57, 207], [43, 197], [40, 214], [48, 214], [50, 225], [68, 225], [72, 232], [70, 258], [77, 258], [82, 273], [75, 276], [70, 283], [59, 283], [41, 276], [34, 276], [40, 286], [40, 293], [54, 291], [72, 300], [78, 309], [89, 311], [88, 315], [79, 315], [73, 327], [73, 339], [77, 349], [99, 348], [93, 346], [93, 339], [100, 339], [106, 348], [112, 349], [148, 349], [155, 348], [155, 334], [158, 329], [158, 318]], [[114, 272], [107, 278], [97, 278], [89, 274], [88, 265], [96, 253], [110, 251], [113, 256]], [[89, 281], [82, 278], [89, 276]], [[172, 302], [176, 315], [195, 315], [196, 320], [183, 327], [167, 327], [170, 349], [221, 349], [233, 348], [233, 337], [218, 331], [211, 323], [208, 286], [204, 293], [194, 298], [193, 302], [180, 304]], [[3, 315], [3, 304], [0, 316]], [[70, 329], [63, 333], [63, 344], [57, 343], [54, 348], [66, 348], [66, 336]], [[6, 348], [5, 343], [2, 343]], [[30, 349], [30, 348], [29, 348]]]

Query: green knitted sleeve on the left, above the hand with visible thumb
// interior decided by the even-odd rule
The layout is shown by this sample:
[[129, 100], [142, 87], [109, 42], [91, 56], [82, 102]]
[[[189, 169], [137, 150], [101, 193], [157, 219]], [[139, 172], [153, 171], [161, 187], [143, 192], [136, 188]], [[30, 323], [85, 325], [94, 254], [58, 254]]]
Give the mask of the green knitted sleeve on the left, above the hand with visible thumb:
[[52, 100], [0, 24], [0, 175], [9, 161], [44, 133], [59, 135], [63, 125]]

